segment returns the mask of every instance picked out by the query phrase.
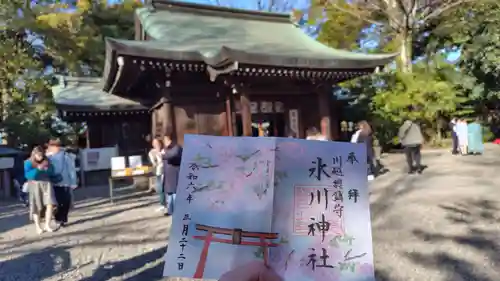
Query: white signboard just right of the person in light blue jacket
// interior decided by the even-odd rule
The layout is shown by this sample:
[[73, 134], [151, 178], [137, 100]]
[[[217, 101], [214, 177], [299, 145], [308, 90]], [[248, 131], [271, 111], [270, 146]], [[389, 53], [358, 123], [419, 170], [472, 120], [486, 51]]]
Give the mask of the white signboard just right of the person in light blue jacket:
[[85, 148], [80, 152], [80, 166], [85, 172], [109, 170], [111, 158], [116, 156], [116, 147]]

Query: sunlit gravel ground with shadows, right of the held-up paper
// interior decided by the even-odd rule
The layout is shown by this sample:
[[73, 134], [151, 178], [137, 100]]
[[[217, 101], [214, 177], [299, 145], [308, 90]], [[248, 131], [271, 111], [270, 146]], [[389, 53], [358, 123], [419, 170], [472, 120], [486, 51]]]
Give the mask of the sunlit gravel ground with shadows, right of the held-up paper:
[[372, 186], [379, 280], [500, 280], [500, 147], [424, 160], [423, 175], [393, 169]]

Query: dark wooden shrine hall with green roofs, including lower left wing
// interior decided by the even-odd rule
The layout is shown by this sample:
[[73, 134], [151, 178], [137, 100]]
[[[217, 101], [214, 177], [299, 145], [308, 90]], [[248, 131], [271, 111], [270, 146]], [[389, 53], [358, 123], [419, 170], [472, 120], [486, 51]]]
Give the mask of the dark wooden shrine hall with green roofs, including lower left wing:
[[333, 86], [394, 57], [325, 46], [289, 15], [153, 0], [135, 11], [135, 40], [106, 39], [103, 77], [61, 77], [53, 96], [63, 120], [87, 124], [88, 147], [129, 155], [186, 132], [302, 138], [316, 127], [335, 140]]

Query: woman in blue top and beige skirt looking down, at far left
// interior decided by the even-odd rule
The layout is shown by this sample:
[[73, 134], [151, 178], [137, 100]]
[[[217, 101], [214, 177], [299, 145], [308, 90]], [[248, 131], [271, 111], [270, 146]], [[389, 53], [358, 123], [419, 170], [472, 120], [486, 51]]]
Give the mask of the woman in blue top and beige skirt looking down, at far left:
[[[24, 161], [24, 177], [29, 193], [30, 218], [35, 223], [36, 232], [42, 234], [44, 231], [53, 232], [50, 226], [54, 206], [57, 200], [50, 178], [54, 174], [54, 167], [41, 146], [36, 146], [31, 152], [29, 159]], [[45, 216], [45, 227], [41, 225], [41, 219]]]

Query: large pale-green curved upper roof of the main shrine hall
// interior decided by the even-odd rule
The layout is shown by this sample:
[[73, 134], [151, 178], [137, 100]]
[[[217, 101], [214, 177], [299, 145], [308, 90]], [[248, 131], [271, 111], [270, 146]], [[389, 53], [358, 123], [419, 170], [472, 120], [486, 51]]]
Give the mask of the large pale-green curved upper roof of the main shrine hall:
[[288, 15], [173, 1], [136, 10], [152, 41], [108, 39], [116, 55], [311, 69], [374, 69], [395, 55], [337, 50], [309, 37]]

